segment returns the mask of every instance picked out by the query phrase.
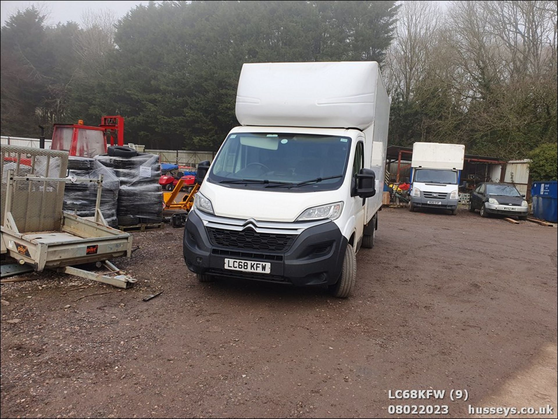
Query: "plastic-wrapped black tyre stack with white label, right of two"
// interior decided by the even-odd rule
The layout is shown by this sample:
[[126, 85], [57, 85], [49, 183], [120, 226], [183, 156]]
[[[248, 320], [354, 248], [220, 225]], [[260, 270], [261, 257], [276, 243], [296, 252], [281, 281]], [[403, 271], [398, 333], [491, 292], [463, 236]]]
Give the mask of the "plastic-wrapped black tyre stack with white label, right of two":
[[138, 153], [136, 157], [95, 157], [110, 168], [120, 181], [118, 225], [161, 223], [163, 194], [159, 178], [159, 156]]

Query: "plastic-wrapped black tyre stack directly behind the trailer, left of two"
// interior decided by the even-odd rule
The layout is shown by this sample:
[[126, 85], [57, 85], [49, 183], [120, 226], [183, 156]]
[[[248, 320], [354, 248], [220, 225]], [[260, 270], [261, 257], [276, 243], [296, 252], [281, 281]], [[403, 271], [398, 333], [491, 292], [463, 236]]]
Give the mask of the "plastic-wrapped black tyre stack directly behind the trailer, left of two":
[[[100, 210], [110, 227], [118, 227], [117, 204], [119, 181], [118, 177], [107, 167], [93, 158], [68, 158], [68, 177], [70, 179], [98, 179], [103, 175]], [[97, 184], [68, 182], [64, 190], [63, 210], [81, 217], [95, 215], [97, 203]]]

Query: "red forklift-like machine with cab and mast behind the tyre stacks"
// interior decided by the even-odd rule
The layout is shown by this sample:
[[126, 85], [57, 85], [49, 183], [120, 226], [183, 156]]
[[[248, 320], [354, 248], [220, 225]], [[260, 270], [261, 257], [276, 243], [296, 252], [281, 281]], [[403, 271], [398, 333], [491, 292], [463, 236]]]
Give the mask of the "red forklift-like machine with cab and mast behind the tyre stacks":
[[98, 127], [77, 124], [54, 124], [51, 150], [68, 151], [70, 156], [94, 157], [107, 152], [107, 143], [124, 145], [124, 118], [102, 117]]

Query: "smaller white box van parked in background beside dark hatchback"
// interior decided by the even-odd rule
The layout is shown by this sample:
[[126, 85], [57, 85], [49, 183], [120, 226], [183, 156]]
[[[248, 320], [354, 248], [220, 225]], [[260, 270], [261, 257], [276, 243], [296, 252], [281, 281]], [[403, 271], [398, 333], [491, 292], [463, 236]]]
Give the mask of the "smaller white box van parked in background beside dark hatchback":
[[409, 210], [442, 208], [457, 215], [463, 144], [414, 143]]

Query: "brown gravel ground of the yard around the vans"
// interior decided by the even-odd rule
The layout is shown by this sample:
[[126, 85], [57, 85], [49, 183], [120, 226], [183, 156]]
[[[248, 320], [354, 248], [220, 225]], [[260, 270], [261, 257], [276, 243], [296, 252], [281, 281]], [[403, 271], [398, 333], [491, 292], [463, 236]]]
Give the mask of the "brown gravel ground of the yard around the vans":
[[[464, 415], [535, 361], [548, 367], [557, 231], [387, 208], [347, 300], [201, 284], [181, 229], [134, 233], [140, 249], [113, 261], [138, 278], [129, 290], [56, 273], [2, 285], [1, 417], [385, 417], [402, 404], [389, 390], [431, 388], [469, 401], [408, 403]], [[555, 403], [548, 368], [554, 387], [538, 391]]]

